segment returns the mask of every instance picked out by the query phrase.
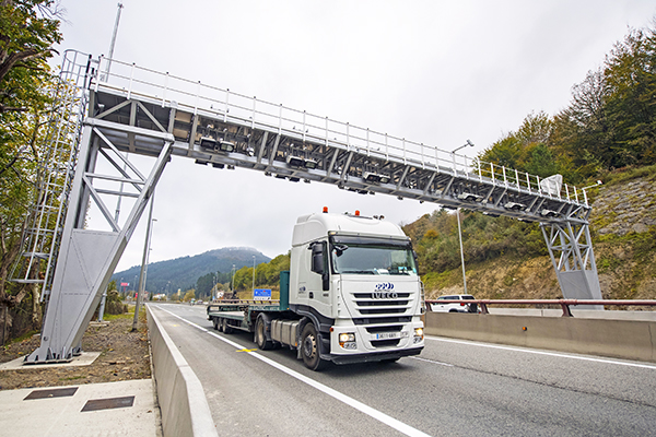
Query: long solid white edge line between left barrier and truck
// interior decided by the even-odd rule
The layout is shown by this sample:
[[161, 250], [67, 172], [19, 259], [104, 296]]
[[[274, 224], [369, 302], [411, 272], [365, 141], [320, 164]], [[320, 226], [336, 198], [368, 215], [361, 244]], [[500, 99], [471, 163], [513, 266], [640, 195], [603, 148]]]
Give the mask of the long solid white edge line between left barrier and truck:
[[[212, 331], [210, 331], [210, 330], [208, 330], [208, 329], [206, 329], [206, 328], [203, 328], [203, 327], [201, 327], [199, 324], [194, 323], [192, 321], [186, 320], [183, 317], [180, 317], [180, 316], [178, 316], [176, 314], [171, 312], [167, 309], [161, 308], [159, 306], [156, 308], [161, 309], [162, 311], [166, 311], [166, 312], [168, 312], [169, 315], [172, 315], [174, 317], [177, 317], [178, 319], [180, 319], [184, 322], [192, 326], [194, 328], [197, 328], [197, 329], [199, 329], [199, 330], [201, 330], [203, 332], [207, 332], [210, 335], [215, 336], [216, 339], [219, 339], [219, 340], [221, 340], [221, 341], [230, 344], [231, 346], [236, 347], [237, 350], [245, 350], [246, 349], [245, 346], [243, 346], [243, 345], [241, 345], [241, 344], [238, 344], [238, 343], [236, 343], [236, 342], [234, 342], [232, 340], [229, 340], [229, 339], [226, 339], [224, 336], [221, 336], [221, 335], [219, 335], [215, 332], [212, 332]], [[279, 370], [288, 374], [289, 376], [294, 377], [297, 380], [307, 383], [308, 386], [311, 386], [311, 387], [313, 387], [313, 388], [315, 388], [315, 389], [317, 389], [317, 390], [319, 390], [319, 391], [328, 394], [331, 398], [337, 399], [340, 402], [345, 403], [349, 406], [354, 408], [355, 410], [358, 410], [358, 411], [360, 411], [360, 412], [362, 412], [362, 413], [364, 413], [364, 414], [366, 414], [366, 415], [375, 418], [378, 422], [384, 423], [385, 425], [387, 425], [387, 426], [389, 426], [389, 427], [391, 427], [391, 428], [394, 428], [394, 429], [396, 429], [396, 430], [398, 430], [398, 432], [400, 432], [400, 433], [402, 433], [402, 434], [405, 434], [407, 436], [412, 436], [412, 437], [414, 437], [414, 436], [417, 436], [417, 437], [424, 437], [424, 436], [426, 436], [427, 437], [429, 436], [427, 434], [422, 433], [421, 430], [419, 430], [417, 428], [413, 428], [410, 425], [407, 425], [407, 424], [405, 424], [405, 423], [402, 423], [400, 421], [397, 421], [396, 418], [394, 418], [391, 416], [388, 416], [387, 414], [385, 414], [383, 412], [379, 412], [378, 410], [375, 410], [375, 409], [373, 409], [373, 408], [371, 408], [371, 406], [368, 406], [368, 405], [366, 405], [366, 404], [364, 404], [364, 403], [362, 403], [360, 401], [356, 401], [355, 399], [353, 399], [353, 398], [351, 398], [351, 397], [349, 397], [347, 394], [343, 394], [343, 393], [341, 393], [341, 392], [339, 392], [339, 391], [337, 391], [335, 389], [331, 389], [330, 387], [328, 387], [326, 385], [323, 385], [321, 382], [317, 382], [314, 379], [306, 377], [305, 375], [302, 375], [302, 374], [300, 374], [300, 373], [297, 373], [295, 370], [292, 370], [289, 367], [283, 366], [282, 364], [276, 363], [274, 361], [272, 361], [270, 358], [267, 358], [266, 356], [260, 355], [257, 352], [247, 352], [247, 354], [250, 355], [250, 356], [253, 356], [253, 357], [255, 357], [255, 358], [257, 358], [257, 359], [259, 359], [259, 361], [261, 361], [261, 362], [263, 362], [263, 363], [266, 363], [266, 364], [268, 364], [269, 366], [276, 367], [277, 369], [279, 369]]]

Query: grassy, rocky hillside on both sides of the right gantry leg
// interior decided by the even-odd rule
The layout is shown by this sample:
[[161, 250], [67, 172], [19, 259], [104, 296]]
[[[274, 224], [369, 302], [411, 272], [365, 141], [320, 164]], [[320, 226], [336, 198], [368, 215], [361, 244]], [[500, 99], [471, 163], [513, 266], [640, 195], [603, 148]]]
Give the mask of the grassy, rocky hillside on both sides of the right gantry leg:
[[[425, 221], [425, 217], [422, 218]], [[407, 232], [417, 234], [418, 222], [406, 226]], [[511, 224], [511, 227], [515, 226]], [[468, 293], [479, 298], [495, 299], [561, 298], [544, 241], [541, 241], [541, 250], [538, 247], [528, 250], [525, 247], [527, 240], [537, 243], [530, 238], [535, 231], [531, 225], [525, 224], [518, 224], [516, 229], [525, 232], [524, 235], [515, 232], [515, 244], [520, 246], [516, 250], [509, 250], [512, 247], [508, 246], [482, 261], [466, 257]], [[605, 185], [594, 193], [590, 232], [604, 298], [655, 299], [656, 167], [608, 175]], [[415, 238], [420, 247], [422, 240], [425, 243], [426, 233], [424, 231], [422, 237]], [[466, 248], [468, 233], [473, 234], [465, 226]], [[502, 239], [503, 232], [493, 238]], [[458, 257], [458, 250], [457, 247], [452, 248], [454, 253], [450, 258]], [[542, 253], [536, 253], [540, 251]], [[423, 258], [425, 263], [425, 256]], [[444, 270], [422, 271], [422, 279], [426, 285], [426, 298], [462, 292], [459, 259], [457, 265], [452, 264]]]

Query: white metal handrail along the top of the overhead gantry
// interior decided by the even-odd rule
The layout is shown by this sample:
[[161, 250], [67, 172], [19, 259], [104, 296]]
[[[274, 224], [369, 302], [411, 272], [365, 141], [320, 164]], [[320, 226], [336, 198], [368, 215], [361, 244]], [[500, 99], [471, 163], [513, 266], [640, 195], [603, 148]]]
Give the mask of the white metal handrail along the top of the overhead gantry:
[[[108, 62], [112, 63], [112, 72], [103, 73], [106, 70], [104, 66]], [[551, 187], [537, 175], [485, 163], [478, 157], [469, 158], [446, 149], [362, 128], [118, 59], [101, 56], [94, 60], [94, 64], [97, 66], [96, 75], [90, 86], [96, 92], [101, 87], [114, 90], [126, 94], [128, 99], [133, 94], [148, 96], [161, 102], [162, 107], [175, 106], [194, 115], [202, 111], [213, 115], [216, 119], [223, 118], [223, 121], [230, 119], [241, 125], [250, 125], [251, 128], [277, 130], [279, 133], [284, 131], [286, 135], [303, 139], [303, 142], [311, 141], [341, 150], [358, 151], [384, 161], [393, 157], [405, 164], [411, 162], [421, 168], [450, 169], [454, 175], [468, 179], [485, 180], [493, 186], [589, 206], [585, 189], [567, 184], [558, 188]]]

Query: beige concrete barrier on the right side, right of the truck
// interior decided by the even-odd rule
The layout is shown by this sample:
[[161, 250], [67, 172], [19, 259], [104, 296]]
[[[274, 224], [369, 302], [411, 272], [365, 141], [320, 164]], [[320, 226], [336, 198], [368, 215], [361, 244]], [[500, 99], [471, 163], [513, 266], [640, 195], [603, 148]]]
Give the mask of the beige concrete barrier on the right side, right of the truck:
[[656, 322], [427, 312], [431, 335], [656, 362]]

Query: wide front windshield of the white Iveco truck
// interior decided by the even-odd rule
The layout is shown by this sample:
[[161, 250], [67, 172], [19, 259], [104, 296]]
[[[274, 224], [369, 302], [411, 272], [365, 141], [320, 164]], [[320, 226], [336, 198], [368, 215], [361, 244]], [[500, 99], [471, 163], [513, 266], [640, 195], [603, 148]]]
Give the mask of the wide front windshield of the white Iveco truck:
[[331, 243], [335, 273], [417, 275], [409, 241], [367, 241], [367, 238], [342, 237], [335, 238]]

